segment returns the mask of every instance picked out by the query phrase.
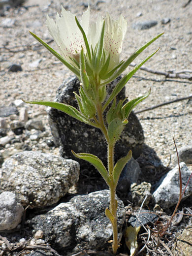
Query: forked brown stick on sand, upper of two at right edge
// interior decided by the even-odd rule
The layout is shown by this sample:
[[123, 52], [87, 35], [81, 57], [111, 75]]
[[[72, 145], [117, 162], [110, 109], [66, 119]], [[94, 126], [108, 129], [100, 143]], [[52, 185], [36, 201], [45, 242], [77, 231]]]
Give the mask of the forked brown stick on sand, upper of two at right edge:
[[[131, 63], [130, 66], [136, 66], [136, 64]], [[168, 77], [168, 78], [189, 79], [190, 81], [192, 81], [192, 75], [183, 74], [186, 72], [192, 73], [192, 70], [179, 70], [178, 72], [173, 72], [173, 71], [166, 72], [166, 71], [153, 70], [146, 66], [141, 66], [140, 69], [152, 74], [164, 75], [165, 77]]]

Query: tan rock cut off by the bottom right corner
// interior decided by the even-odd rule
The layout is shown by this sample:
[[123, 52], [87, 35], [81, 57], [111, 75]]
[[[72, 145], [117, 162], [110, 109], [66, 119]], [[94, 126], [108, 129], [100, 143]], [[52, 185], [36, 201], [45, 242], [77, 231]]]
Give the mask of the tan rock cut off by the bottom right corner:
[[177, 237], [177, 242], [172, 249], [173, 255], [192, 255], [192, 226], [186, 226], [182, 234]]

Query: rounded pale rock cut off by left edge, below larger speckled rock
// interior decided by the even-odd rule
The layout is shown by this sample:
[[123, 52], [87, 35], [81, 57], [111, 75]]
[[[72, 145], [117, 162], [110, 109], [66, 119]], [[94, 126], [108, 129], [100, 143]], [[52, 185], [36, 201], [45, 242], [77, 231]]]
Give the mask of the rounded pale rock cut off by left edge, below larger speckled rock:
[[14, 193], [6, 191], [0, 194], [0, 230], [15, 228], [21, 222], [23, 212], [24, 208]]

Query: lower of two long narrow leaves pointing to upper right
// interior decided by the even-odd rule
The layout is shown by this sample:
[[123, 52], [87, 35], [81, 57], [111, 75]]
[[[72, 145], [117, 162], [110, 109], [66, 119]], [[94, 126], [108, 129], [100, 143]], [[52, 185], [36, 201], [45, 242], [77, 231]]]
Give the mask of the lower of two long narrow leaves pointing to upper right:
[[155, 53], [157, 53], [159, 49], [157, 49], [154, 53], [152, 53], [150, 56], [148, 56], [147, 58], [145, 58], [142, 62], [140, 62], [139, 64], [137, 64], [127, 75], [125, 75], [116, 85], [116, 87], [114, 88], [112, 94], [110, 95], [110, 97], [108, 98], [107, 102], [104, 104], [103, 106], [103, 111], [104, 109], [109, 105], [109, 103], [111, 102], [111, 100], [114, 99], [114, 97], [116, 97], [119, 92], [121, 92], [121, 90], [124, 88], [124, 86], [126, 85], [126, 83], [128, 82], [128, 80], [134, 75], [134, 73], [143, 65], [145, 64]]

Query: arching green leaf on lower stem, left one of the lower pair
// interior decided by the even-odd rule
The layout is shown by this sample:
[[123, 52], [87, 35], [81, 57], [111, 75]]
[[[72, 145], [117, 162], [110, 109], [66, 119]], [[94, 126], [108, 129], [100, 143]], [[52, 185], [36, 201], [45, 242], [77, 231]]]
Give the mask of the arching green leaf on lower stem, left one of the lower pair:
[[92, 154], [88, 154], [88, 153], [76, 154], [76, 153], [74, 153], [74, 151], [72, 151], [72, 153], [75, 157], [77, 157], [79, 159], [86, 160], [86, 161], [90, 162], [91, 164], [93, 164], [96, 167], [96, 169], [99, 171], [99, 173], [102, 175], [105, 182], [109, 185], [110, 178], [108, 176], [107, 170], [106, 170], [104, 164], [102, 163], [102, 161], [98, 157], [96, 157]]

